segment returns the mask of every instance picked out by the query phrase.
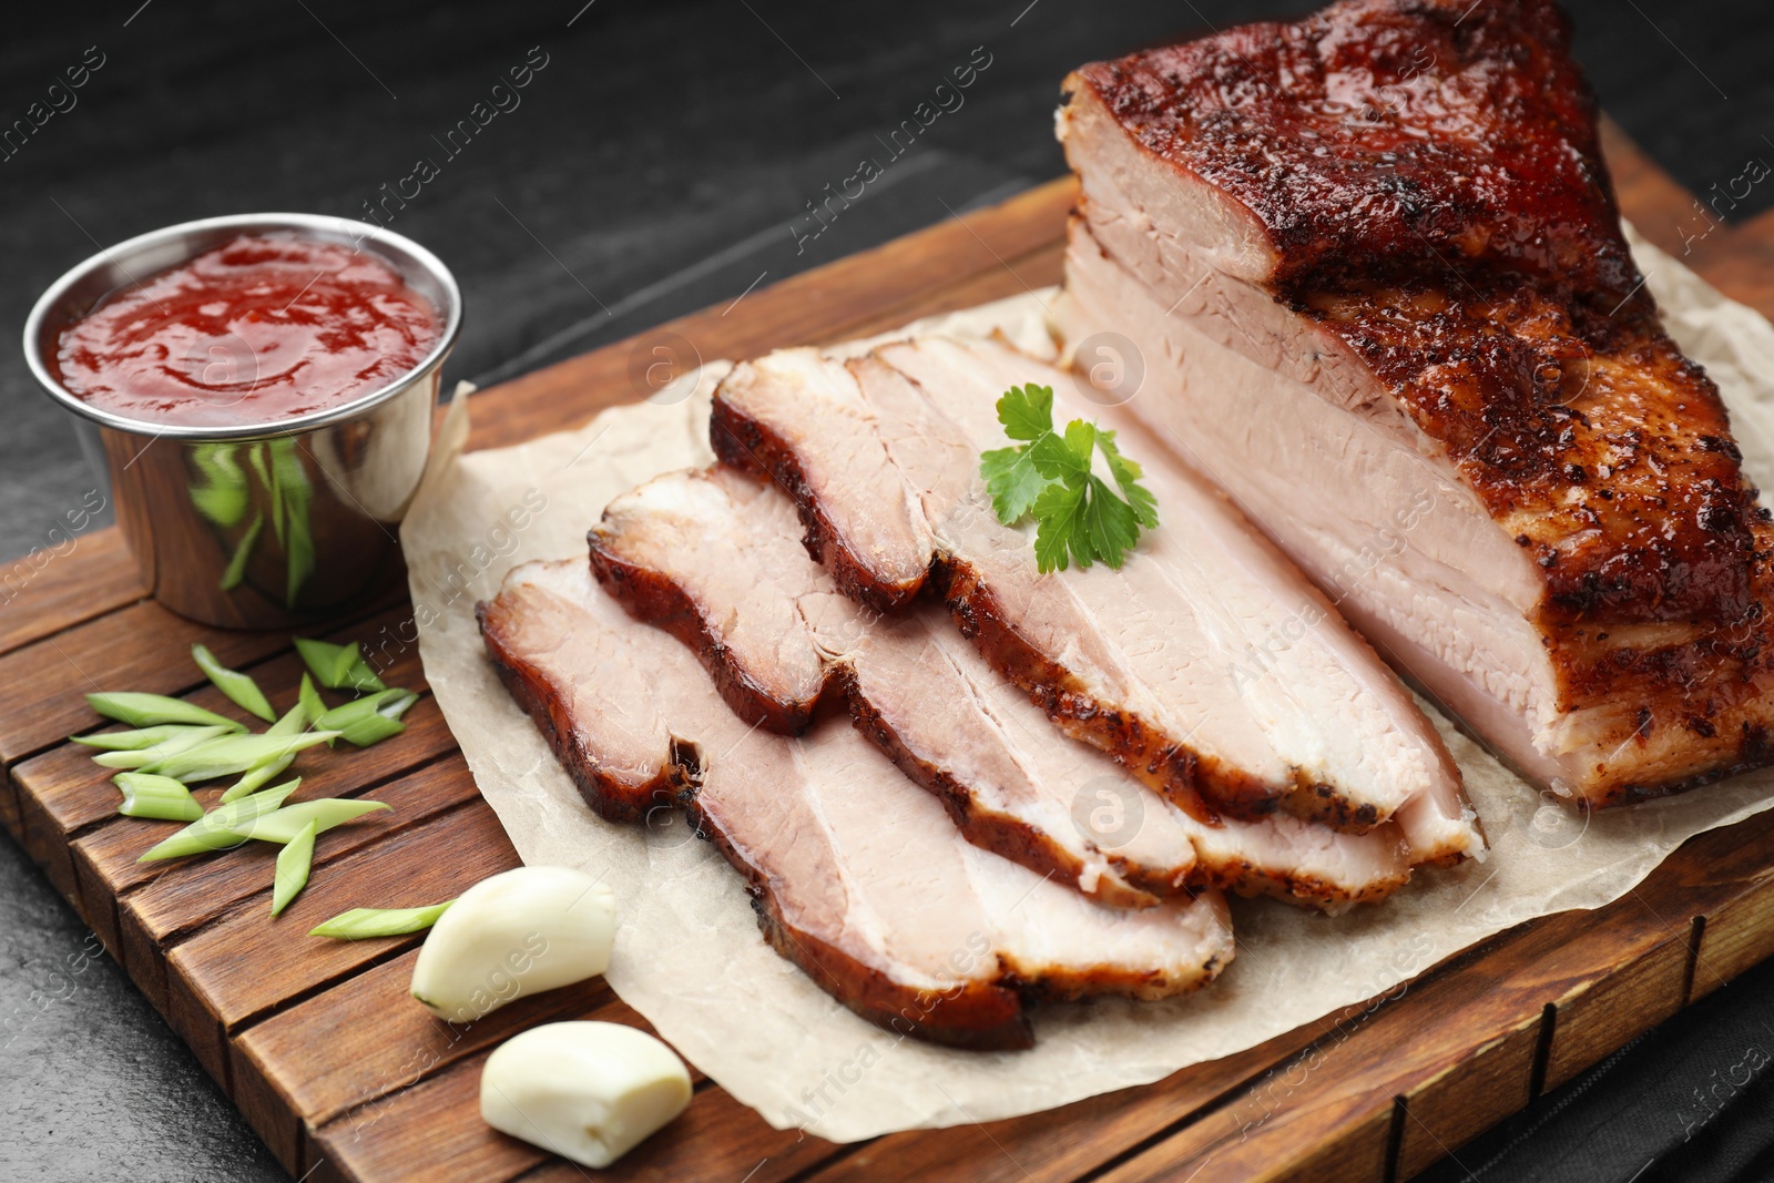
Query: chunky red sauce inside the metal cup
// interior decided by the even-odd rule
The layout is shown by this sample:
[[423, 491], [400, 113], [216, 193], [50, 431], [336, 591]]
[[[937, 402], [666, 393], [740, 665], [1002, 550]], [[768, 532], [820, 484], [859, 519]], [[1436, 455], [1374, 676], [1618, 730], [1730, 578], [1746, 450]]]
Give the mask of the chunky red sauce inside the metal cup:
[[248, 234], [106, 296], [62, 332], [57, 369], [82, 401], [130, 419], [268, 424], [389, 385], [442, 332], [387, 262]]

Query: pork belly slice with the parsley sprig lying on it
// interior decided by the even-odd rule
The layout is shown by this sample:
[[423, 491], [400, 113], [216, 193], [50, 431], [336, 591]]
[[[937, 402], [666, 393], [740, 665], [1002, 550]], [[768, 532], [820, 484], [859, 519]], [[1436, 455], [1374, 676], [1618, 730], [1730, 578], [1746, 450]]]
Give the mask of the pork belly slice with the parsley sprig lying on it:
[[[995, 404], [1022, 383], [1054, 388], [1056, 424], [1095, 419], [1146, 466], [1162, 525], [1121, 569], [1041, 575], [1034, 527], [997, 521], [979, 454], [1008, 443]], [[846, 592], [901, 603], [922, 568], [999, 674], [1197, 819], [1284, 811], [1361, 834], [1396, 818], [1412, 862], [1481, 850], [1453, 761], [1368, 644], [1222, 495], [1066, 372], [940, 337], [848, 364], [789, 349], [734, 367], [711, 436], [793, 495]]]

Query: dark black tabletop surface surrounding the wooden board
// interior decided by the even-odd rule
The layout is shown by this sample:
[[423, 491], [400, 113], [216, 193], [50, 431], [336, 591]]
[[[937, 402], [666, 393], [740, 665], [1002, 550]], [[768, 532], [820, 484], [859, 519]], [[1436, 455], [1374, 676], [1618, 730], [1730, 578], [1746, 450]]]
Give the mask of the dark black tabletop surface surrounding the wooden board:
[[[1490, 4], [1494, 0], [1478, 0]], [[584, 5], [584, 7], [582, 7]], [[1063, 172], [1059, 80], [1086, 60], [1299, 0], [550, 0], [39, 4], [0, 32], [0, 128], [89, 55], [103, 66], [0, 160], [0, 559], [48, 541], [94, 475], [30, 383], [18, 328], [66, 268], [224, 213], [362, 216], [431, 156], [392, 229], [456, 271], [447, 380], [481, 385], [731, 302]], [[1774, 11], [1575, 0], [1604, 106], [1694, 192], [1774, 160]], [[458, 156], [442, 137], [511, 66], [546, 66]], [[797, 247], [807, 202], [985, 46], [992, 64], [867, 197]], [[541, 60], [539, 57], [536, 60]], [[66, 105], [66, 99], [62, 99]], [[1774, 200], [1756, 190], [1739, 218]], [[0, 607], [0, 610], [5, 610]], [[23, 853], [0, 839], [0, 1176], [277, 1179], [280, 1169]], [[1446, 1162], [1437, 1179], [1774, 1178], [1758, 970]], [[1767, 1061], [1763, 1054], [1760, 1057]], [[1701, 1121], [1701, 1117], [1705, 1119]]]

